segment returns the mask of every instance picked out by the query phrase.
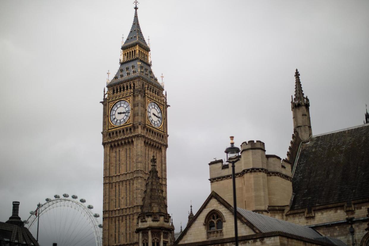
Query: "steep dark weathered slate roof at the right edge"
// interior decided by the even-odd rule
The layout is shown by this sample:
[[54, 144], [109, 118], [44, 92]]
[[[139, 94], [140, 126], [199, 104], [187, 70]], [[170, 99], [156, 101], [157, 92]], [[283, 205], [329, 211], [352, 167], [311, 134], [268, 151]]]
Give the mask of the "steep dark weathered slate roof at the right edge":
[[369, 198], [369, 124], [317, 135], [301, 145], [291, 210]]

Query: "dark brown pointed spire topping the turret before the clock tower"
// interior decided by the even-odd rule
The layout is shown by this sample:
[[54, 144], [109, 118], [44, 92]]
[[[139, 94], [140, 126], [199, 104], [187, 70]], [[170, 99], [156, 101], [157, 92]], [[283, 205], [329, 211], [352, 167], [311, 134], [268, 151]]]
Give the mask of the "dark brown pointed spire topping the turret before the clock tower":
[[156, 170], [156, 158], [154, 155], [152, 155], [151, 170], [147, 179], [144, 198], [142, 198], [141, 213], [168, 214], [163, 197], [162, 185], [158, 177], [158, 170]]

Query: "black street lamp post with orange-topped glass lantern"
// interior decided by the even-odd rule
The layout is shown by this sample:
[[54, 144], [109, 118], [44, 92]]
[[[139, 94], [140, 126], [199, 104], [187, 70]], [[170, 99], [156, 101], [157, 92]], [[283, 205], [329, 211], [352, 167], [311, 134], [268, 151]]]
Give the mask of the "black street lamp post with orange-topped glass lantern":
[[238, 246], [238, 228], [237, 228], [237, 201], [236, 201], [236, 180], [235, 180], [235, 171], [234, 171], [234, 163], [239, 161], [239, 148], [234, 146], [233, 136], [230, 136], [231, 146], [225, 149], [225, 153], [227, 153], [227, 162], [232, 163], [232, 186], [233, 186], [233, 209], [234, 209], [234, 239], [235, 245]]

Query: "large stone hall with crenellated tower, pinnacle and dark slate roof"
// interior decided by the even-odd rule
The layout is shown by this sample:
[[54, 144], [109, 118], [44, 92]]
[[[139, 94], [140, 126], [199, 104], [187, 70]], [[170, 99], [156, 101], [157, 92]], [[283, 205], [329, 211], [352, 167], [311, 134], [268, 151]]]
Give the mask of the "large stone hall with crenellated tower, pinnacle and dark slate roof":
[[[265, 155], [261, 141], [241, 144], [236, 191], [240, 208], [314, 228], [352, 245], [369, 241], [369, 126], [312, 136], [309, 100], [295, 73], [294, 134], [287, 158]], [[209, 163], [211, 190], [232, 203], [231, 170]], [[350, 221], [349, 218], [354, 218]]]

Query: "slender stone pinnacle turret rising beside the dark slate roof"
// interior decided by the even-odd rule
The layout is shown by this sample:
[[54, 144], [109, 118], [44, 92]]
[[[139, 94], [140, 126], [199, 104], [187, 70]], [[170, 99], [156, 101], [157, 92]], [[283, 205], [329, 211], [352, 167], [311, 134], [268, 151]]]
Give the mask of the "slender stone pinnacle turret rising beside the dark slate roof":
[[312, 136], [309, 107], [309, 99], [304, 97], [300, 82], [300, 73], [296, 69], [295, 95], [291, 100], [291, 110], [293, 115], [293, 128], [299, 133], [302, 141]]

